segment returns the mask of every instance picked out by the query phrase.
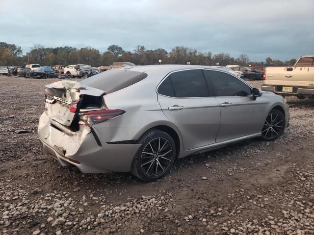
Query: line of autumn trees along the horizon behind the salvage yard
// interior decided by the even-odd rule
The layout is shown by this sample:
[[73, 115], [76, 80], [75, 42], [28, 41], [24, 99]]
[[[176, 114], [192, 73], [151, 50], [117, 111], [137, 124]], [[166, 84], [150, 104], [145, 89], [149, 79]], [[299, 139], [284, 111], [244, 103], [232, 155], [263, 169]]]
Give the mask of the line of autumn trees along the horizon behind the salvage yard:
[[296, 59], [281, 61], [267, 57], [265, 61], [250, 61], [246, 54], [232, 57], [229, 53], [212, 54], [210, 51], [202, 52], [195, 48], [178, 46], [167, 51], [163, 48], [147, 49], [138, 45], [133, 51], [125, 51], [117, 45], [110, 45], [104, 53], [93, 47], [44, 47], [35, 44], [31, 47], [29, 55], [23, 55], [21, 47], [15, 44], [0, 42], [0, 66], [22, 66], [40, 64], [41, 66], [87, 64], [93, 67], [111, 65], [114, 61], [129, 61], [135, 65], [156, 65], [159, 59], [162, 64], [191, 65], [239, 65], [239, 66], [290, 66]]

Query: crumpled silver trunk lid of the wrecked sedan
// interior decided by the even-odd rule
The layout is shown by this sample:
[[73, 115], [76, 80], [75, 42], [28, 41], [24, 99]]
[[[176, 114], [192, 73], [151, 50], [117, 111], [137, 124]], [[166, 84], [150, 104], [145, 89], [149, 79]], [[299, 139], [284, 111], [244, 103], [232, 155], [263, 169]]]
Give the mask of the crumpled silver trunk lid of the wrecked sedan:
[[[78, 81], [63, 80], [46, 85], [45, 112], [51, 120], [70, 126], [77, 117], [79, 108], [102, 106], [104, 91], [87, 87]], [[79, 101], [77, 111], [71, 112], [72, 102]]]

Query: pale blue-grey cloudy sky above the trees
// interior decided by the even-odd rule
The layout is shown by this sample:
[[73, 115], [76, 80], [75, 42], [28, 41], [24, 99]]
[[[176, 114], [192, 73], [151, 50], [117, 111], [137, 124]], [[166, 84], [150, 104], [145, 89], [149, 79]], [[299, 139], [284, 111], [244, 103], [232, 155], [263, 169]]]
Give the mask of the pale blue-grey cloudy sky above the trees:
[[314, 54], [314, 0], [0, 0], [0, 41], [288, 60]]

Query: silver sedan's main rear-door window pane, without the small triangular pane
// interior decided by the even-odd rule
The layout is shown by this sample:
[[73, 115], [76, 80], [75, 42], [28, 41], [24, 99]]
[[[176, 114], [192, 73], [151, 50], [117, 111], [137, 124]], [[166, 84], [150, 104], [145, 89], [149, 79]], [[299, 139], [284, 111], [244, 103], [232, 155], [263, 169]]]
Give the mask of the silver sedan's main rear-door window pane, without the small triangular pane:
[[209, 96], [201, 70], [186, 70], [170, 75], [176, 97]]

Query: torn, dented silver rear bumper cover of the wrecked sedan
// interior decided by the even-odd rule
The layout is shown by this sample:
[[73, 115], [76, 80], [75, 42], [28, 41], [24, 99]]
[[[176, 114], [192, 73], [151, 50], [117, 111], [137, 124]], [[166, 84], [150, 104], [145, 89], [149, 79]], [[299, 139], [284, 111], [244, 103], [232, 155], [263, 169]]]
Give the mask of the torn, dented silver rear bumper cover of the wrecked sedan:
[[[77, 167], [82, 173], [128, 172], [140, 144], [108, 144], [98, 134], [96, 141], [88, 126], [72, 132], [43, 113], [38, 136], [43, 152], [52, 155], [63, 166]], [[132, 156], [132, 157], [130, 157]]]

